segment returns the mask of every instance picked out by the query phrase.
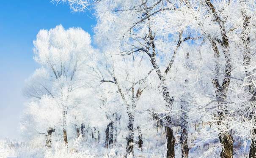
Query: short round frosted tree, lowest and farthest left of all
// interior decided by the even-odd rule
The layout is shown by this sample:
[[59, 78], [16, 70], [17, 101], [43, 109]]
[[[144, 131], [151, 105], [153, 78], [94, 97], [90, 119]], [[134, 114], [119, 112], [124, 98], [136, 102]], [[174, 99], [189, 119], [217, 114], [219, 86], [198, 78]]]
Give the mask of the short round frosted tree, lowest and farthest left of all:
[[52, 132], [61, 124], [61, 107], [55, 98], [49, 95], [27, 104], [22, 118], [22, 132], [25, 137], [34, 139], [39, 135], [46, 136], [47, 147], [52, 147]]

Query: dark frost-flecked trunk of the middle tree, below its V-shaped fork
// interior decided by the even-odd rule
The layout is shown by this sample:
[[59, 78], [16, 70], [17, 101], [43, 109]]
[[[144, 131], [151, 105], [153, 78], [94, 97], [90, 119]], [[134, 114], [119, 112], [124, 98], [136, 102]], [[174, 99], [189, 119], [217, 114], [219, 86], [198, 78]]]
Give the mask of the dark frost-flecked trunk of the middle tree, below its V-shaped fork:
[[133, 152], [133, 141], [134, 141], [134, 127], [133, 127], [133, 122], [134, 122], [134, 115], [131, 112], [128, 112], [128, 117], [129, 117], [129, 123], [128, 123], [128, 137], [127, 139], [127, 145], [126, 145], [126, 154], [134, 156]]

